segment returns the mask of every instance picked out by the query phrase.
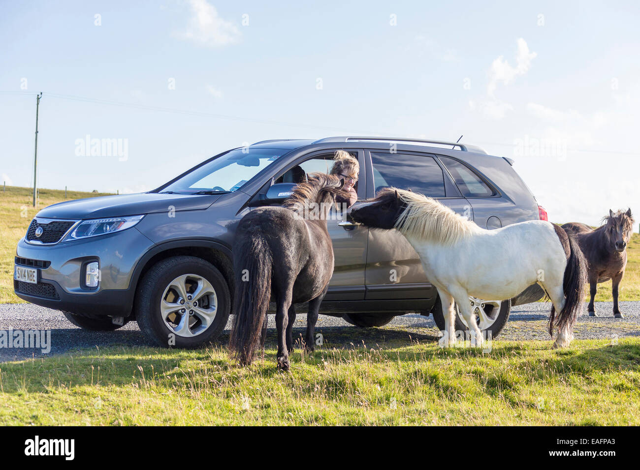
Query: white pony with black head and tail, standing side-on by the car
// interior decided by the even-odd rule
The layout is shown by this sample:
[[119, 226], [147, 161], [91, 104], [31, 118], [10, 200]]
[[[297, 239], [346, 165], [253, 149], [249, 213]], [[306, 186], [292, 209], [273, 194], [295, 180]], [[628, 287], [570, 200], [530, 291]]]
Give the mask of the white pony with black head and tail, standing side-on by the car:
[[371, 204], [353, 208], [351, 217], [371, 228], [395, 228], [413, 246], [442, 302], [445, 344], [456, 341], [454, 302], [472, 343], [481, 345], [468, 297], [511, 299], [534, 283], [553, 303], [548, 329], [553, 336], [557, 327], [554, 346], [572, 341], [586, 283], [586, 263], [572, 233], [547, 221], [485, 230], [435, 199], [396, 188], [383, 189]]

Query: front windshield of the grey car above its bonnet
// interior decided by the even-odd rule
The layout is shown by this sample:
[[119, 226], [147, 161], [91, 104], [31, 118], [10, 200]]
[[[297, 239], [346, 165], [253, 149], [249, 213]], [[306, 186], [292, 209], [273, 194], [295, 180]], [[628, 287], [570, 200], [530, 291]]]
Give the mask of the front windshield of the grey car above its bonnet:
[[161, 192], [174, 194], [234, 192], [289, 151], [290, 149], [285, 148], [238, 148], [196, 168]]

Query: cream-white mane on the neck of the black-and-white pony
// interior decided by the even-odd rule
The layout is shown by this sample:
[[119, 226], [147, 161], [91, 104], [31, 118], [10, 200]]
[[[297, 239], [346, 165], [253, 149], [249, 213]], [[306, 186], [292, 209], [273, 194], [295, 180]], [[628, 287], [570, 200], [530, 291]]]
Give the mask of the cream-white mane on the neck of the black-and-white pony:
[[387, 191], [394, 194], [397, 191], [400, 200], [406, 204], [396, 222], [396, 229], [405, 236], [451, 246], [482, 230], [467, 217], [456, 214], [433, 198], [403, 189], [388, 188]]

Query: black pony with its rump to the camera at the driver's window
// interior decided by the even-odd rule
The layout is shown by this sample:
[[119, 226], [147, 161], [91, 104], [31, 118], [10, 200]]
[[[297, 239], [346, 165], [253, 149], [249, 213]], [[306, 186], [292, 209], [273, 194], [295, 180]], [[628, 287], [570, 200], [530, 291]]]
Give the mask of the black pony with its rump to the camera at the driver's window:
[[[327, 218], [344, 180], [312, 173], [283, 207], [252, 210], [239, 222], [233, 244], [236, 294], [229, 349], [241, 365], [264, 349], [267, 310], [273, 296], [278, 330], [278, 368], [289, 369], [294, 303], [309, 302], [305, 347], [314, 349], [320, 303], [333, 274]], [[344, 194], [343, 194], [344, 195]], [[287, 315], [288, 313], [288, 315]], [[287, 318], [288, 316], [288, 318]]]

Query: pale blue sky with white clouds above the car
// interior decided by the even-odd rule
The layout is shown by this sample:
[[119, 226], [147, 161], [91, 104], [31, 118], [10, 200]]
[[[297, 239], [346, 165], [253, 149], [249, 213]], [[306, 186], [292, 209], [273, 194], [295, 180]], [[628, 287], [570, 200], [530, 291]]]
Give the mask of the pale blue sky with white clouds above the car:
[[263, 139], [462, 135], [513, 158], [552, 221], [640, 214], [639, 20], [631, 1], [0, 0], [0, 176], [33, 184], [42, 91], [39, 187], [148, 191]]

